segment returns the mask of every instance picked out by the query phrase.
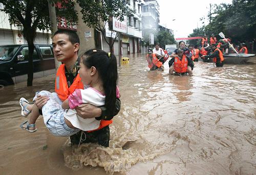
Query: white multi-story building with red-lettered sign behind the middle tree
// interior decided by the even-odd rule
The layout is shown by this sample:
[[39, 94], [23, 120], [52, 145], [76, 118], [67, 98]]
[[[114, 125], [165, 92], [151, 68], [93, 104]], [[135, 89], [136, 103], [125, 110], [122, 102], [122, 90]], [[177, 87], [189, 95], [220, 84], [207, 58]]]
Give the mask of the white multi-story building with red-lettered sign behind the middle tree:
[[[143, 0], [127, 0], [126, 6], [134, 10], [134, 14], [126, 16], [124, 21], [120, 21], [113, 18], [113, 31], [121, 33], [121, 51], [122, 55], [127, 56], [129, 54], [135, 54], [141, 52], [140, 41], [142, 38], [142, 11], [141, 6], [144, 4]], [[107, 27], [108, 28], [108, 27]], [[111, 32], [107, 29], [106, 36], [108, 39], [111, 37]], [[112, 38], [115, 38], [116, 34], [112, 34]], [[103, 38], [103, 37], [102, 37]], [[103, 50], [109, 51], [109, 45], [104, 39], [102, 39]], [[114, 54], [118, 55], [118, 39], [114, 43]]]

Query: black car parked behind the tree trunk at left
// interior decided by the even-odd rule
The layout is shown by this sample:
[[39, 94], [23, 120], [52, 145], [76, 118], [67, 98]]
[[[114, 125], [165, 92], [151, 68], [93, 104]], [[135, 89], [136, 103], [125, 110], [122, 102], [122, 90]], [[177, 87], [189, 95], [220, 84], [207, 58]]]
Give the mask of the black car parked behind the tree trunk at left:
[[[29, 47], [0, 45], [0, 86], [27, 80]], [[52, 45], [36, 44], [33, 53], [34, 78], [55, 73]]]

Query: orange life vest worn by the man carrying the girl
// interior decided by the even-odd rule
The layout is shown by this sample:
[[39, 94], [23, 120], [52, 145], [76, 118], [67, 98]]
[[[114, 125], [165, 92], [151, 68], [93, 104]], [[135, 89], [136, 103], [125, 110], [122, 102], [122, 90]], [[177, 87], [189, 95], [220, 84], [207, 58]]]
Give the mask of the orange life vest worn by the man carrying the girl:
[[[65, 101], [69, 97], [70, 94], [72, 94], [76, 89], [83, 89], [83, 84], [81, 82], [81, 78], [79, 74], [77, 74], [76, 78], [74, 79], [74, 82], [69, 87], [67, 83], [67, 78], [65, 75], [65, 64], [61, 64], [57, 70], [56, 73], [56, 79], [55, 79], [55, 92], [58, 94], [58, 97]], [[100, 130], [109, 124], [112, 123], [112, 120], [100, 120], [99, 128], [96, 130]], [[96, 131], [93, 130], [93, 131]], [[92, 132], [92, 131], [87, 131]]]

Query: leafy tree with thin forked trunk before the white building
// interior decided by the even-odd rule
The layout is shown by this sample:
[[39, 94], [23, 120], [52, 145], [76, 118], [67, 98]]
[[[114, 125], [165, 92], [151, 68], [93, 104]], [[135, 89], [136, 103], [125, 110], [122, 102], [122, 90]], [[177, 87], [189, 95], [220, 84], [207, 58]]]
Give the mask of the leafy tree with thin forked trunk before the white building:
[[[118, 18], [123, 21], [124, 16], [130, 16], [133, 10], [126, 5], [124, 0], [77, 0], [77, 3], [81, 7], [82, 19], [87, 23], [88, 27], [96, 28], [105, 34], [105, 22], [109, 22], [111, 26], [112, 17]], [[112, 51], [114, 41], [110, 41], [103, 35], [106, 43], [110, 46]]]

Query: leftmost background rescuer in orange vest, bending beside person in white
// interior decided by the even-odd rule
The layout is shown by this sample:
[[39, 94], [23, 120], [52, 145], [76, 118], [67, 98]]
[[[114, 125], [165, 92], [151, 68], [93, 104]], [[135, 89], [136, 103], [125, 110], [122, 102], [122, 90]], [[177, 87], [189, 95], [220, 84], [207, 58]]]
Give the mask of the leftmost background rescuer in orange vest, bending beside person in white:
[[157, 59], [156, 54], [153, 54], [153, 49], [147, 49], [146, 61], [150, 70], [164, 70], [163, 63]]

